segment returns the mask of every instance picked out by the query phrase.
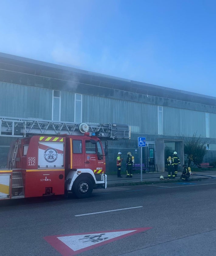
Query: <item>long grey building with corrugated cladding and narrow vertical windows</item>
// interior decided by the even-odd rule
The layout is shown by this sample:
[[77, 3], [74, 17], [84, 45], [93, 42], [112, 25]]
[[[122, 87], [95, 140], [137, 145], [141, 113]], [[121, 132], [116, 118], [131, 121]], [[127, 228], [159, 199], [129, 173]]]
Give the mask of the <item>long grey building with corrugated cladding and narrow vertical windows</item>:
[[118, 151], [140, 162], [138, 137], [146, 137], [143, 162], [160, 171], [173, 151], [183, 163], [183, 138], [195, 132], [208, 149], [204, 161], [216, 160], [215, 97], [0, 53], [0, 168], [11, 141], [28, 136], [16, 126], [25, 120], [130, 125], [130, 140], [108, 141], [107, 173]]

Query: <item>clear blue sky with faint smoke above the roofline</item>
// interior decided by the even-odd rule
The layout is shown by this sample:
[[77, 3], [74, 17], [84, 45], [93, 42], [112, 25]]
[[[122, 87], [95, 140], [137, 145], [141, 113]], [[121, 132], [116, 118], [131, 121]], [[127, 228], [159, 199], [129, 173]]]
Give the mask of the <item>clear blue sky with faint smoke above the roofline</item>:
[[216, 97], [216, 1], [2, 0], [0, 52]]

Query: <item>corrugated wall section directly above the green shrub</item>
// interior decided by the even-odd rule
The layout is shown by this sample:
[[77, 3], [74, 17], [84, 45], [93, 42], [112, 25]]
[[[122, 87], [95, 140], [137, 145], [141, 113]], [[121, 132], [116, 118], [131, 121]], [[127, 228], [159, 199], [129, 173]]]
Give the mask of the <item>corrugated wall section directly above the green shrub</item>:
[[163, 107], [163, 135], [206, 136], [205, 112]]

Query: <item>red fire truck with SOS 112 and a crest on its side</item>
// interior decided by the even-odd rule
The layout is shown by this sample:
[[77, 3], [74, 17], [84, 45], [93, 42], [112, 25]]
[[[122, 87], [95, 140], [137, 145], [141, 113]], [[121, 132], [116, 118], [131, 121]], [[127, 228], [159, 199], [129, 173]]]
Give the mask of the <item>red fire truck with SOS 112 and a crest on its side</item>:
[[25, 134], [12, 142], [7, 169], [0, 170], [0, 199], [68, 192], [87, 198], [94, 188], [106, 188], [107, 140], [103, 139], [129, 139], [129, 126], [81, 123], [74, 127], [72, 135]]

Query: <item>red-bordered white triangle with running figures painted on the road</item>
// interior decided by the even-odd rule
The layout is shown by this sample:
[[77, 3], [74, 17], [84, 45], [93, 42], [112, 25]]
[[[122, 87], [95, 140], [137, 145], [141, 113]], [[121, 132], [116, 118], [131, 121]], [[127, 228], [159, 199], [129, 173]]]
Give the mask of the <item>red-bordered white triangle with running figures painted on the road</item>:
[[48, 236], [43, 238], [63, 256], [73, 256], [151, 228], [152, 227], [127, 230], [109, 230], [93, 233]]

